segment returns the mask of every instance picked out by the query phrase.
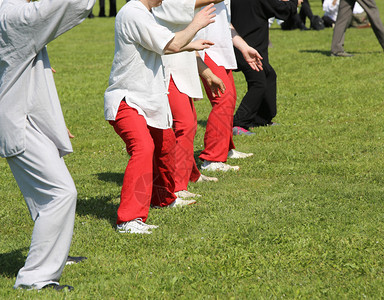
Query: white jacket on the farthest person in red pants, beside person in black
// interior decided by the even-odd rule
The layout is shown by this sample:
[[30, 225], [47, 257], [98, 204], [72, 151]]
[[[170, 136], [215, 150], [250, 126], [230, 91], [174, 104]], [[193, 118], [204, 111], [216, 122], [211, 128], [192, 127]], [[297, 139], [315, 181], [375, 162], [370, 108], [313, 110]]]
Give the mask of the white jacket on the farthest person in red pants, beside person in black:
[[216, 63], [227, 70], [237, 69], [236, 56], [233, 50], [232, 34], [230, 30], [231, 10], [230, 0], [215, 4], [215, 22], [201, 29], [195, 39], [204, 39], [215, 44], [205, 50], [199, 51], [204, 60], [205, 53]]

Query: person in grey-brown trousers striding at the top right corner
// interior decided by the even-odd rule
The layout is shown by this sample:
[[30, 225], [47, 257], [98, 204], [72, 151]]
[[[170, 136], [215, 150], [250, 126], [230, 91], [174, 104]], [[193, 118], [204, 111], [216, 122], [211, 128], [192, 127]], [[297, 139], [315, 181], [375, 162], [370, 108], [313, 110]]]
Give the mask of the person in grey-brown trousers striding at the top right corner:
[[377, 8], [375, 0], [340, 0], [337, 20], [333, 29], [331, 56], [353, 56], [344, 51], [344, 38], [345, 32], [352, 20], [355, 2], [358, 2], [367, 13], [373, 32], [384, 50], [384, 26], [380, 19], [379, 9]]

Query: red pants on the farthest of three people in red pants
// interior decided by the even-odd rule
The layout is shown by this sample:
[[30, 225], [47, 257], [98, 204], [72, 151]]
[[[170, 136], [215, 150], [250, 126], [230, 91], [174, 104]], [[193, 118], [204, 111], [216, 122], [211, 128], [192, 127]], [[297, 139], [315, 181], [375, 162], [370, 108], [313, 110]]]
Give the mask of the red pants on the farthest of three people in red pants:
[[228, 151], [235, 149], [232, 140], [233, 113], [236, 107], [236, 87], [231, 70], [219, 67], [205, 54], [204, 62], [225, 84], [221, 97], [213, 97], [205, 80], [202, 79], [212, 111], [209, 114], [204, 136], [204, 150], [199, 158], [208, 161], [227, 161]]

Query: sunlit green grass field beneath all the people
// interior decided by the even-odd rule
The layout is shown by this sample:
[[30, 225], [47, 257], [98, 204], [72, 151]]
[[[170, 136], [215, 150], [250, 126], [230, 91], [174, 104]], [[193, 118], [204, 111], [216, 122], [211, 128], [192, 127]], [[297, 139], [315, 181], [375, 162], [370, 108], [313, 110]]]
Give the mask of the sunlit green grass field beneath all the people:
[[[311, 5], [322, 14], [320, 0]], [[148, 222], [160, 228], [140, 236], [114, 229], [129, 157], [103, 117], [113, 26], [113, 18], [87, 19], [48, 45], [76, 136], [65, 158], [78, 189], [70, 255], [88, 260], [64, 270], [72, 293], [12, 289], [33, 222], [1, 159], [0, 298], [384, 298], [384, 54], [373, 31], [348, 30], [345, 49], [355, 56], [334, 58], [332, 29], [284, 32], [275, 24], [280, 126], [234, 137], [238, 150], [255, 154], [229, 161], [240, 171], [191, 184], [198, 205], [150, 210]], [[240, 73], [235, 81], [239, 103], [246, 84]], [[209, 101], [196, 109], [198, 155]]]

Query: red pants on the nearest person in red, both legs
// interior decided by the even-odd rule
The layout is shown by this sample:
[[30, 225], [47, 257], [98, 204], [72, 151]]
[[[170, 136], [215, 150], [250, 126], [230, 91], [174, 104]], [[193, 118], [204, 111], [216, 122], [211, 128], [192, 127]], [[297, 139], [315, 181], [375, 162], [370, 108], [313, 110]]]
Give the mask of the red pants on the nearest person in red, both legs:
[[109, 121], [131, 155], [124, 174], [117, 224], [148, 217], [150, 204], [167, 206], [176, 199], [175, 134], [147, 125], [137, 110], [121, 101], [115, 121]]

